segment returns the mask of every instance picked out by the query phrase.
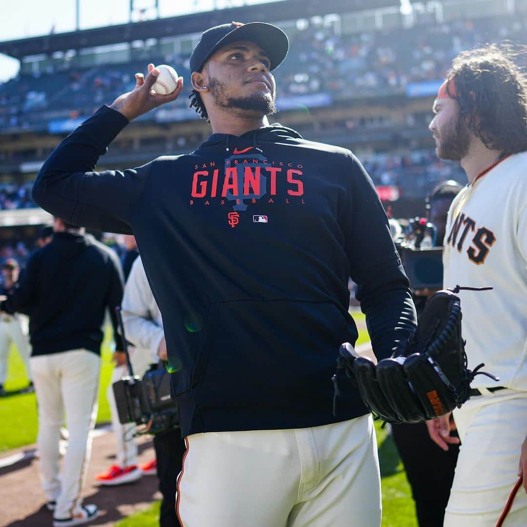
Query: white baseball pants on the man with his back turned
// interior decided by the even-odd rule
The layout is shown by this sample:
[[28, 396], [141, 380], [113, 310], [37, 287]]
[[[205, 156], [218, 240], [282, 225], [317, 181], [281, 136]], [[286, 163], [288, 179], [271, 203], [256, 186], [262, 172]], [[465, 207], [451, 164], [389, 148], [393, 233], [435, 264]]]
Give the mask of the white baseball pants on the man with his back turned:
[[[90, 431], [97, 416], [100, 364], [100, 357], [86, 349], [31, 357], [42, 487], [46, 500], [56, 501], [56, 519], [80, 512], [91, 455]], [[61, 474], [58, 442], [64, 412], [70, 437]]]

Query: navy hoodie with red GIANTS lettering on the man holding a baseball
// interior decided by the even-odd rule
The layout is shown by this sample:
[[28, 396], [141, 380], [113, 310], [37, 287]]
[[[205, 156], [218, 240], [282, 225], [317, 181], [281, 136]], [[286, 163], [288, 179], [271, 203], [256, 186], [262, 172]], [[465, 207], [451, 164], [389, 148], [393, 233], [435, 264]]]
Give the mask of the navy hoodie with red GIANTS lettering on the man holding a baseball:
[[74, 225], [135, 235], [163, 317], [182, 434], [318, 426], [367, 413], [338, 347], [355, 343], [348, 277], [373, 349], [415, 328], [387, 218], [348, 150], [267, 126], [190, 154], [94, 172], [128, 121], [103, 106], [52, 152], [33, 199]]

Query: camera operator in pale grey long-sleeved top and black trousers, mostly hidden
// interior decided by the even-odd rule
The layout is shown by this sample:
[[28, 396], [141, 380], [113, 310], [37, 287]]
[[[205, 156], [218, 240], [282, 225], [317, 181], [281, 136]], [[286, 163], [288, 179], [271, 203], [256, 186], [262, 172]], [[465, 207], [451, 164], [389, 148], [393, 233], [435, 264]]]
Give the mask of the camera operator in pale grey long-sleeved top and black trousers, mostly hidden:
[[[148, 356], [152, 363], [165, 366], [167, 343], [163, 333], [161, 313], [145, 275], [141, 257], [135, 259], [122, 303], [126, 339], [134, 346], [134, 354]], [[159, 490], [163, 495], [159, 524], [161, 527], [180, 525], [175, 510], [177, 478], [181, 472], [185, 444], [179, 428], [154, 435], [157, 456]]]

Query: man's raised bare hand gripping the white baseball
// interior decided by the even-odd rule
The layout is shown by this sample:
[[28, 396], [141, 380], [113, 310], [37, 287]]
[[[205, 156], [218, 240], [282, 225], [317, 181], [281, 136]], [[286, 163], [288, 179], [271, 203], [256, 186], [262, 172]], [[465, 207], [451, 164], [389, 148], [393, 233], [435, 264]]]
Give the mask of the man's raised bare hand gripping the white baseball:
[[145, 78], [142, 73], [135, 74], [135, 87], [131, 92], [123, 93], [112, 103], [110, 108], [122, 113], [126, 119], [132, 121], [136, 117], [147, 113], [161, 104], [175, 101], [183, 89], [183, 77], [179, 77], [178, 86], [168, 95], [160, 95], [152, 91], [159, 70], [153, 64], [148, 65], [148, 75]]

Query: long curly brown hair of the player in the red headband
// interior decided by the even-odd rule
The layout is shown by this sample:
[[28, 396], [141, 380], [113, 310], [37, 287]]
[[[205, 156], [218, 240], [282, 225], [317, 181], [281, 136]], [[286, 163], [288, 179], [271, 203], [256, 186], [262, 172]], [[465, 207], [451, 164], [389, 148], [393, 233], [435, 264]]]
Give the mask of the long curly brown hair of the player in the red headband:
[[485, 44], [460, 53], [452, 62], [446, 90], [460, 105], [457, 126], [465, 120], [483, 144], [503, 154], [527, 150], [527, 79], [515, 64], [524, 47]]

